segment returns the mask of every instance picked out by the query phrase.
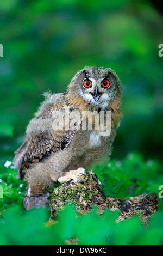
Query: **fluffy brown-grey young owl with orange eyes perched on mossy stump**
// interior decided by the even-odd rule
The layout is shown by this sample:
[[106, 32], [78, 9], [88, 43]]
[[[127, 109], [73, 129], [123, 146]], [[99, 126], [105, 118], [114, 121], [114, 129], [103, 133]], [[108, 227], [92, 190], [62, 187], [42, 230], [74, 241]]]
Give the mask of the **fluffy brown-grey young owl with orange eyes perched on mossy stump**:
[[[116, 73], [110, 68], [89, 66], [77, 72], [65, 93], [45, 93], [14, 157], [18, 176], [27, 180], [27, 210], [46, 204], [55, 182], [83, 182], [80, 173], [85, 176], [86, 168], [108, 160], [122, 117], [121, 99]], [[92, 114], [90, 120], [87, 113], [96, 115]], [[107, 113], [110, 132], [106, 135]], [[101, 114], [105, 124], [102, 128], [98, 118]]]

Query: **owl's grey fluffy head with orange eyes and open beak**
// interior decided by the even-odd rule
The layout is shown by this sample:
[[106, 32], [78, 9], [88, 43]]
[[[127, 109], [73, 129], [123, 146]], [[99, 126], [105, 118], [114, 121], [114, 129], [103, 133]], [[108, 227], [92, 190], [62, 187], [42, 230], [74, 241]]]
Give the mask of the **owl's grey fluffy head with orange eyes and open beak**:
[[121, 98], [121, 83], [110, 68], [85, 66], [79, 70], [68, 87], [92, 105], [107, 107], [116, 97]]

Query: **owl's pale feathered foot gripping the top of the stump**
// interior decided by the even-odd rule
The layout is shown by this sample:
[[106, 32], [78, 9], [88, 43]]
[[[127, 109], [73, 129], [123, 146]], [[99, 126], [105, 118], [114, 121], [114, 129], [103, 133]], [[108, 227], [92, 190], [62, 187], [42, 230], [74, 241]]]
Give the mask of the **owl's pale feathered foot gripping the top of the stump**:
[[70, 180], [74, 180], [75, 182], [80, 182], [83, 183], [83, 180], [81, 180], [79, 178], [79, 174], [82, 173], [84, 174], [84, 178], [86, 176], [86, 171], [83, 167], [78, 168], [77, 170], [70, 170], [69, 172], [66, 172], [65, 176], [61, 176], [58, 181], [62, 184], [64, 182], [70, 181]]

